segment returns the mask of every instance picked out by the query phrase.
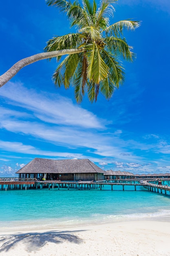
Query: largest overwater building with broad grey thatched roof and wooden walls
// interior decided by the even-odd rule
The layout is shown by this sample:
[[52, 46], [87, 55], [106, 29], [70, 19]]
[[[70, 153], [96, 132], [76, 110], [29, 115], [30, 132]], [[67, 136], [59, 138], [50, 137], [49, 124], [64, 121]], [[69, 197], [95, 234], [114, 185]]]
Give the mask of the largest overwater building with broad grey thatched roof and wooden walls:
[[37, 180], [104, 180], [104, 171], [88, 159], [51, 160], [35, 158], [19, 171], [19, 178]]

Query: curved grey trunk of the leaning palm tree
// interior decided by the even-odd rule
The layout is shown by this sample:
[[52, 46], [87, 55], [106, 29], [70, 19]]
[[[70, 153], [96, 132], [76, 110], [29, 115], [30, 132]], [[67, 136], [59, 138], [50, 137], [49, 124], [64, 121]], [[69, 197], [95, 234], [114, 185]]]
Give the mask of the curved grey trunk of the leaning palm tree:
[[42, 52], [39, 54], [32, 55], [27, 58], [23, 58], [22, 60], [16, 62], [7, 72], [2, 74], [0, 76], [0, 87], [2, 87], [5, 83], [7, 83], [15, 74], [18, 73], [23, 67], [34, 63], [36, 61], [44, 60], [46, 58], [53, 58], [65, 54], [75, 54], [79, 52], [83, 52], [84, 49], [64, 49], [64, 50], [59, 50], [59, 51], [53, 51], [53, 52]]

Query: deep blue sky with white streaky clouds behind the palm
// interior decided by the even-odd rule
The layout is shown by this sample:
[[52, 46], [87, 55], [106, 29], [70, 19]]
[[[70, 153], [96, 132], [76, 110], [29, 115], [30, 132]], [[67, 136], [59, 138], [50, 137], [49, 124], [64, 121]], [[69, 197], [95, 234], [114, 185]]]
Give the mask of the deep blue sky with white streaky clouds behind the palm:
[[[24, 67], [0, 88], [0, 177], [35, 157], [88, 158], [104, 170], [170, 172], [170, 3], [119, 0], [110, 23], [133, 18], [126, 32], [137, 59], [125, 63], [126, 80], [107, 101], [77, 105], [74, 90], [56, 89], [55, 60]], [[64, 14], [44, 0], [0, 4], [0, 74], [21, 58], [43, 52], [54, 35], [73, 31]]]

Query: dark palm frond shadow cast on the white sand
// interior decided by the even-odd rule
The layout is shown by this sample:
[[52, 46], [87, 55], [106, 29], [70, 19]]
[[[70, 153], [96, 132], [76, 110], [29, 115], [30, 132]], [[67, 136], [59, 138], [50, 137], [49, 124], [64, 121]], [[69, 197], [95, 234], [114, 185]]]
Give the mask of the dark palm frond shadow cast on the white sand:
[[[75, 232], [81, 232], [83, 230], [77, 230]], [[83, 242], [81, 238], [73, 234], [73, 231], [49, 231], [44, 233], [24, 233], [24, 234], [11, 234], [0, 237], [0, 254], [2, 252], [8, 252], [9, 249], [15, 247], [18, 243], [24, 243], [27, 251], [37, 251], [40, 247], [43, 247], [47, 243], [63, 243], [65, 241], [75, 244]]]

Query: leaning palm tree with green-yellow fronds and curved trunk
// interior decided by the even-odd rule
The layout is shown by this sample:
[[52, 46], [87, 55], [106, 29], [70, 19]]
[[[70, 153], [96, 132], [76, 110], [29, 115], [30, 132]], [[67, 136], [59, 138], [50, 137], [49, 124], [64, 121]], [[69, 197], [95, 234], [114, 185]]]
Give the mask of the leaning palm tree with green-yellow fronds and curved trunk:
[[[91, 102], [97, 100], [99, 92], [110, 99], [115, 88], [119, 88], [124, 81], [122, 58], [132, 61], [135, 56], [123, 37], [123, 30], [135, 30], [140, 25], [140, 22], [132, 20], [121, 20], [109, 25], [109, 17], [113, 17], [115, 11], [113, 3], [116, 1], [102, 0], [97, 9], [95, 0], [93, 3], [82, 0], [82, 4], [77, 0], [73, 3], [70, 0], [46, 0], [49, 6], [66, 12], [71, 27], [76, 26], [77, 32], [53, 37], [47, 42], [43, 57], [40, 58], [39, 54], [28, 57], [22, 60], [22, 65], [24, 60], [29, 65], [33, 57], [36, 60], [31, 59], [31, 63], [54, 56], [59, 61], [63, 54], [68, 54], [53, 74], [55, 85], [64, 85], [66, 89], [73, 85], [78, 103], [85, 92]], [[10, 72], [7, 71], [7, 75]]]

